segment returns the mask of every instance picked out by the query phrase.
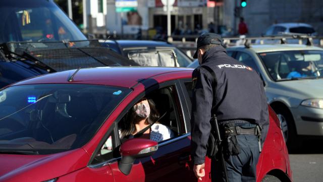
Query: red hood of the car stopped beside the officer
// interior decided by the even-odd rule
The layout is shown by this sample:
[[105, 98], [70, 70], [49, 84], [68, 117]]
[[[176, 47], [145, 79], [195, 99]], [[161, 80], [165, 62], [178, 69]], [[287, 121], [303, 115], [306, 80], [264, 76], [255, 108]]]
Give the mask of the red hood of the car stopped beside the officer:
[[82, 149], [50, 155], [0, 154], [0, 181], [43, 181], [73, 172], [87, 165]]

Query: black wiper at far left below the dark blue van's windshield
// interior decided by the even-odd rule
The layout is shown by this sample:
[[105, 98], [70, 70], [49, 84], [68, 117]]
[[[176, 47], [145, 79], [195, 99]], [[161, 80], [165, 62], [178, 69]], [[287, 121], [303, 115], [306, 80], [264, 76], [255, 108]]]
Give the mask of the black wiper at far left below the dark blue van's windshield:
[[32, 56], [31, 54], [27, 53], [26, 51], [23, 52], [22, 55], [12, 52], [7, 48], [7, 45], [5, 43], [0, 45], [0, 49], [4, 51], [5, 55], [7, 56], [7, 58], [11, 58], [11, 59], [17, 59], [17, 57], [14, 57], [12, 55], [18, 56], [22, 59], [19, 59], [19, 61], [31, 61], [34, 64], [28, 63], [28, 62], [24, 62], [30, 66], [34, 66], [40, 69], [45, 69], [48, 73], [52, 73], [52, 72], [56, 72], [55, 69], [51, 68], [50, 66], [46, 65], [45, 63], [41, 62], [40, 60], [38, 60], [37, 58], [35, 58], [34, 56]]

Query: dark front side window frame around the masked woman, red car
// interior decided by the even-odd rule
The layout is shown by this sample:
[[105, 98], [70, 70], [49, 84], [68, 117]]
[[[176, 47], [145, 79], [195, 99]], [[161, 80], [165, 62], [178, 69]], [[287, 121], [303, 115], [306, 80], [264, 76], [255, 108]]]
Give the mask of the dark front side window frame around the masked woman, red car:
[[[176, 119], [177, 120], [179, 119], [177, 125], [178, 125], [179, 129], [181, 130], [181, 134], [178, 135], [178, 136], [175, 136], [174, 138], [172, 138], [170, 140], [159, 142], [158, 146], [164, 146], [164, 145], [176, 142], [176, 141], [181, 140], [181, 139], [187, 137], [188, 135], [190, 135], [190, 132], [188, 132], [188, 130], [186, 128], [188, 121], [187, 121], [187, 117], [186, 117], [187, 113], [184, 113], [184, 111], [187, 112], [187, 107], [185, 105], [186, 103], [184, 103], [182, 101], [182, 99], [184, 97], [184, 94], [183, 94], [183, 89], [180, 86], [180, 82], [178, 80], [170, 80], [170, 81], [166, 81], [166, 82], [163, 82], [163, 83], [158, 83], [157, 86], [158, 86], [158, 88], [156, 88], [156, 85], [154, 84], [154, 85], [148, 87], [147, 89], [145, 89], [143, 92], [138, 94], [132, 101], [130, 101], [128, 103], [128, 105], [125, 107], [125, 109], [119, 114], [117, 119], [112, 123], [110, 128], [104, 134], [104, 136], [100, 140], [99, 144], [96, 146], [96, 149], [94, 150], [92, 156], [90, 157], [90, 160], [89, 160], [87, 166], [92, 167], [92, 168], [99, 168], [99, 167], [103, 167], [105, 165], [109, 165], [111, 163], [114, 163], [116, 161], [119, 161], [121, 159], [121, 156], [118, 156], [118, 157], [113, 157], [112, 159], [108, 159], [106, 161], [103, 161], [103, 162], [100, 162], [100, 163], [97, 163], [97, 164], [92, 164], [92, 162], [93, 162], [93, 160], [95, 158], [95, 155], [99, 152], [99, 150], [101, 149], [101, 146], [105, 143], [107, 138], [111, 135], [112, 130], [113, 130], [113, 134], [114, 134], [114, 137], [113, 137], [114, 140], [112, 141], [113, 146], [115, 146], [114, 150], [119, 148], [119, 146], [121, 145], [121, 139], [120, 139], [120, 136], [119, 136], [118, 123], [122, 120], [122, 118], [131, 109], [131, 107], [134, 104], [136, 104], [141, 98], [143, 98], [147, 94], [150, 94], [154, 90], [157, 90], [157, 89], [166, 88], [166, 87], [169, 87], [169, 86], [174, 86], [175, 89], [176, 89], [176, 93], [177, 93], [178, 105], [180, 106], [180, 109], [181, 109], [181, 113], [180, 113], [180, 111], [178, 111], [177, 114], [176, 114]], [[178, 118], [178, 115], [182, 115], [182, 118]], [[107, 121], [107, 119], [104, 122], [106, 122], [106, 121]], [[184, 127], [183, 127], [183, 125], [184, 125]], [[115, 152], [115, 151], [113, 151], [113, 152]]]

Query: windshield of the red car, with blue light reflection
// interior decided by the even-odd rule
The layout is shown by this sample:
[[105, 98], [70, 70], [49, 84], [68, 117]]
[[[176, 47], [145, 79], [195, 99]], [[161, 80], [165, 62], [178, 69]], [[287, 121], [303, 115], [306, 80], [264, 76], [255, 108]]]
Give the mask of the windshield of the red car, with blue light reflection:
[[35, 84], [0, 91], [0, 151], [52, 154], [86, 144], [129, 88]]

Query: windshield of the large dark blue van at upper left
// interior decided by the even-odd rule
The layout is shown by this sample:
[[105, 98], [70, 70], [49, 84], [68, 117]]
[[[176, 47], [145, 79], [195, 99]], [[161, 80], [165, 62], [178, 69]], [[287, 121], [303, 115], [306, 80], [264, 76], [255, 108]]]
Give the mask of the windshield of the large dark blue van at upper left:
[[0, 42], [85, 40], [52, 1], [0, 1]]

